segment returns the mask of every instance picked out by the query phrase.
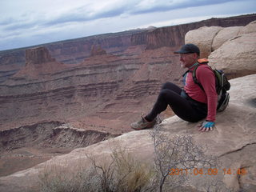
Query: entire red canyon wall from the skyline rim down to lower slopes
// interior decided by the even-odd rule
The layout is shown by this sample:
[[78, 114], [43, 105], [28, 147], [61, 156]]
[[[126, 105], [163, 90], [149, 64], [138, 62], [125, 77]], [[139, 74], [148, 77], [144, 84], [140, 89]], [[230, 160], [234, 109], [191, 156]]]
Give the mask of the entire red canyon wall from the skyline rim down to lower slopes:
[[121, 134], [152, 107], [163, 82], [181, 84], [178, 55], [188, 30], [240, 26], [256, 14], [102, 34], [0, 52], [0, 130], [74, 122]]

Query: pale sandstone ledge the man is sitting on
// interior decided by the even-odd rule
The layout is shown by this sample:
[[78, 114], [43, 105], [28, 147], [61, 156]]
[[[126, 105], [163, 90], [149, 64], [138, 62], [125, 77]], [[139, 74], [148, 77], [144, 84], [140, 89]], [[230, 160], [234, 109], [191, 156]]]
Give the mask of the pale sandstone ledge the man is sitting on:
[[[208, 146], [206, 153], [217, 156], [222, 162], [222, 165], [218, 167], [218, 174], [210, 179], [215, 182], [224, 182], [234, 191], [254, 191], [256, 187], [255, 81], [255, 74], [230, 81], [230, 106], [217, 115], [216, 127], [211, 132], [198, 132], [197, 123], [184, 122], [177, 116], [168, 118], [161, 124], [162, 131], [166, 135], [190, 134], [196, 144]], [[0, 190], [16, 192], [36, 189], [38, 175], [42, 173], [46, 165], [66, 166], [68, 169], [78, 165], [78, 162], [90, 165], [86, 154], [106, 161], [110, 158], [110, 143], [113, 146], [121, 143], [136, 158], [153, 163], [154, 146], [150, 131], [141, 130], [122, 134], [111, 142], [99, 142], [86, 148], [73, 150], [70, 154], [58, 156], [28, 170], [2, 177], [0, 178]], [[238, 175], [237, 170], [242, 168], [246, 169], [246, 174]], [[232, 174], [224, 174], [223, 169], [230, 169]], [[198, 177], [200, 177], [199, 180]], [[203, 185], [209, 177], [191, 175], [190, 186], [204, 190]]]

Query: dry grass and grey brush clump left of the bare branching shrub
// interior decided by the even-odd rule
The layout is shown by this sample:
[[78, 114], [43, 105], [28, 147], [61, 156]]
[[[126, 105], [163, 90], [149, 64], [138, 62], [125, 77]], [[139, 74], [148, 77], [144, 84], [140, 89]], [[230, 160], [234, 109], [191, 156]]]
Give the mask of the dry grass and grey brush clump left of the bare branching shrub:
[[41, 192], [139, 192], [154, 191], [150, 186], [153, 171], [145, 163], [136, 161], [126, 149], [114, 149], [110, 161], [98, 163], [87, 155], [92, 166], [78, 163], [69, 166], [47, 166], [40, 174]]

